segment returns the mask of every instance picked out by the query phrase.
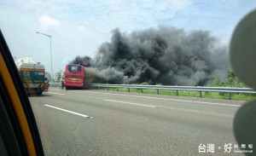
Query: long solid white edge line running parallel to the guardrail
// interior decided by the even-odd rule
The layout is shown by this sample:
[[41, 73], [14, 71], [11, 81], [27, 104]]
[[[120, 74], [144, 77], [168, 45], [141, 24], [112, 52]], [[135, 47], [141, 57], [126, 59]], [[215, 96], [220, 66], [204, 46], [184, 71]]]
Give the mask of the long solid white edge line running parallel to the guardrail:
[[[73, 91], [79, 91], [79, 90], [73, 90]], [[81, 92], [96, 93], [96, 94], [103, 94], [103, 95], [121, 95], [121, 94], [114, 94], [114, 93], [102, 93], [102, 92], [96, 92], [96, 91], [81, 91]], [[203, 103], [203, 104], [207, 104], [207, 105], [241, 107], [240, 105], [232, 105], [232, 104], [226, 104], [226, 103], [212, 103], [212, 102], [207, 102], [207, 101], [185, 101], [185, 100], [166, 99], [166, 98], [161, 98], [161, 97], [149, 97], [149, 96], [141, 96], [141, 95], [123, 95], [123, 96], [139, 97], [139, 98], [147, 98], [147, 99], [157, 99], [157, 100], [164, 100], [164, 101], [184, 101], [184, 102], [191, 102], [191, 103]]]

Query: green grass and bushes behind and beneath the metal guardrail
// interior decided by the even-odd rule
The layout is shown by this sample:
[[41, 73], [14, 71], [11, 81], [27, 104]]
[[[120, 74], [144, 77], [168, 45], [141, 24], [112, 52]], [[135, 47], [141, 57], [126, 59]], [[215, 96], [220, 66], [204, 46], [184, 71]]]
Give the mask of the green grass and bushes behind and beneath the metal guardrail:
[[[149, 85], [148, 83], [143, 83], [142, 85]], [[156, 84], [161, 85], [161, 84]], [[206, 86], [208, 87], [236, 87], [236, 88], [247, 88], [247, 86], [236, 78], [234, 72], [227, 72], [227, 78], [221, 81], [219, 78], [215, 78], [211, 82], [209, 82]], [[107, 90], [107, 88], [102, 88], [102, 90]], [[116, 91], [117, 88], [109, 88], [108, 90]], [[119, 88], [119, 91], [127, 92], [127, 88]], [[140, 89], [130, 89], [130, 92], [141, 93]], [[143, 90], [144, 94], [157, 94], [156, 90]], [[160, 95], [176, 95], [176, 90], [159, 90]], [[179, 96], [189, 96], [189, 97], [199, 97], [198, 91], [178, 91]], [[201, 92], [202, 98], [212, 98], [212, 99], [229, 99], [229, 95], [227, 93], [218, 93], [218, 92]], [[241, 100], [241, 101], [249, 101], [256, 99], [256, 94], [231, 94], [232, 100]]]

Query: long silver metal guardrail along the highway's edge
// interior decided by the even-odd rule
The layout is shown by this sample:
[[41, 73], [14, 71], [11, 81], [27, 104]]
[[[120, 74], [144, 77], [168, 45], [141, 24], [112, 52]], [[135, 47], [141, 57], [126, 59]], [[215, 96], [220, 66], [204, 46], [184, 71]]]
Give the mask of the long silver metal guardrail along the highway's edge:
[[198, 91], [199, 97], [201, 97], [201, 92], [220, 92], [228, 93], [229, 99], [231, 100], [231, 93], [243, 93], [243, 94], [256, 94], [256, 90], [251, 88], [231, 88], [231, 87], [195, 87], [195, 86], [169, 86], [169, 85], [138, 85], [138, 84], [91, 84], [91, 86], [100, 88], [127, 88], [128, 92], [130, 89], [141, 89], [143, 93], [144, 89], [156, 90], [159, 95], [159, 90], [176, 90], [176, 95], [178, 95], [179, 90], [187, 91]]

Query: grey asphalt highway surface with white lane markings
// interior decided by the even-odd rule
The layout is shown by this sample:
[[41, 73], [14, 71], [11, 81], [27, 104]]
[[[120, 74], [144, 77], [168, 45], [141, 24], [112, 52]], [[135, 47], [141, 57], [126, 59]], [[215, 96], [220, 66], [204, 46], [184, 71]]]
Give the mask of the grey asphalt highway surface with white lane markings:
[[224, 144], [245, 101], [60, 89], [29, 100], [45, 155], [242, 155]]

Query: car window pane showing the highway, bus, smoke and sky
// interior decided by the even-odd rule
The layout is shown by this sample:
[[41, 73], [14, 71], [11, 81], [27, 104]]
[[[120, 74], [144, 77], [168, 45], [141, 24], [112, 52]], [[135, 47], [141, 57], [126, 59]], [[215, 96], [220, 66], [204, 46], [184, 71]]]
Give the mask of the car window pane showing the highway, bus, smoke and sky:
[[45, 155], [256, 149], [237, 142], [233, 126], [256, 92], [230, 64], [232, 34], [255, 0], [5, 0], [0, 7]]

